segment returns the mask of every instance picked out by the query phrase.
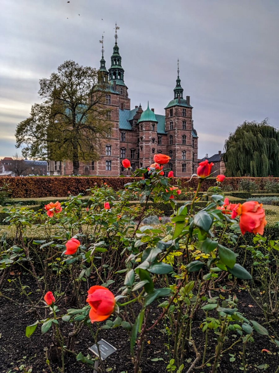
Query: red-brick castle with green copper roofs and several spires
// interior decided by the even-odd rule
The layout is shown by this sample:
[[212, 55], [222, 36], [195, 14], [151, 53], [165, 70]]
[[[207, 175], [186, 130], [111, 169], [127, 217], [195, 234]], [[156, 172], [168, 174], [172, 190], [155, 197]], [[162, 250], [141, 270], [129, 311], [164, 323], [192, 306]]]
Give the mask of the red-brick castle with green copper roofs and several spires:
[[[100, 159], [95, 162], [80, 162], [79, 174], [126, 175], [121, 163], [123, 159], [129, 159], [135, 170], [150, 166], [154, 163], [154, 154], [162, 153], [171, 157], [165, 167], [172, 169], [174, 176], [192, 175], [198, 164], [198, 136], [193, 128], [190, 96], [183, 98], [179, 66], [174, 96], [164, 108], [165, 115], [155, 114], [149, 104], [145, 110], [142, 110], [141, 105], [131, 109], [117, 44], [117, 29], [116, 27], [110, 68], [106, 69], [103, 48], [99, 68], [99, 75], [108, 83], [105, 105], [110, 109], [108, 116], [112, 122], [111, 133], [104, 139], [105, 146]], [[48, 175], [71, 175], [72, 170], [73, 164], [70, 161], [48, 162]]]

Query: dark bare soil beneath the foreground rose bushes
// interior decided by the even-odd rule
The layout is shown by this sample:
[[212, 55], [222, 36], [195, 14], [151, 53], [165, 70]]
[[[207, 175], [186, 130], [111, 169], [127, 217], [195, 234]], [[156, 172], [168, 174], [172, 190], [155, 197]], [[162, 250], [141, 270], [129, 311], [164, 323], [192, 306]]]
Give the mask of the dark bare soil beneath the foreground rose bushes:
[[[16, 276], [12, 276], [15, 278]], [[33, 284], [31, 278], [27, 276], [21, 276], [23, 284], [30, 286], [33, 292], [30, 295], [32, 298], [36, 298], [36, 286]], [[93, 285], [93, 284], [91, 284]], [[18, 289], [11, 282], [4, 286], [3, 294], [7, 297], [13, 298], [19, 303], [27, 303], [26, 298], [20, 295]], [[212, 297], [218, 294], [211, 294]], [[227, 297], [228, 293], [224, 293]], [[237, 293], [239, 300], [238, 310], [244, 314], [245, 317], [251, 320], [256, 320], [260, 323], [264, 323], [264, 317], [262, 311], [256, 306], [246, 291], [241, 290]], [[67, 305], [67, 308], [72, 305]], [[61, 311], [64, 311], [63, 307], [60, 307]], [[151, 321], [159, 314], [161, 309], [154, 307], [151, 310]], [[193, 323], [193, 339], [195, 340], [197, 349], [203, 354], [204, 345], [204, 334], [201, 332], [199, 325], [203, 321], [204, 313], [201, 311], [198, 313]], [[0, 297], [0, 373], [17, 373], [17, 372], [28, 372], [28, 369], [32, 368], [32, 373], [49, 372], [46, 364], [45, 354], [51, 345], [51, 330], [45, 335], [41, 335], [40, 327], [37, 328], [31, 338], [26, 338], [25, 328], [27, 325], [31, 325], [38, 319], [35, 313], [30, 313], [28, 308], [21, 307], [12, 303], [9, 300]], [[64, 323], [63, 323], [64, 324]], [[68, 331], [71, 331], [71, 325], [65, 324]], [[94, 326], [95, 324], [93, 324]], [[266, 326], [266, 325], [265, 325]], [[96, 327], [96, 325], [94, 326]], [[267, 327], [267, 326], [266, 326]], [[278, 325], [273, 325], [277, 333], [279, 332]], [[63, 332], [66, 329], [63, 329]], [[163, 333], [164, 325], [161, 323], [158, 328], [153, 329], [150, 335], [147, 335], [144, 353], [141, 360], [142, 373], [163, 373], [166, 372], [166, 366], [168, 364], [168, 339], [166, 333]], [[270, 330], [270, 334], [274, 335], [274, 332]], [[208, 352], [206, 358], [214, 355], [215, 345], [217, 341], [217, 335], [213, 332], [209, 333]], [[105, 361], [104, 366], [107, 372], [114, 373], [133, 373], [134, 366], [131, 360], [130, 353], [130, 342], [128, 333], [121, 327], [116, 329], [103, 329], [98, 339], [103, 338], [110, 344], [117, 348], [117, 351], [110, 355]], [[229, 342], [238, 339], [237, 333], [230, 333], [230, 341], [225, 342], [225, 348], [229, 346]], [[251, 372], [268, 372], [275, 373], [279, 366], [279, 349], [269, 341], [267, 336], [262, 336], [254, 333], [254, 343], [247, 344], [246, 351], [246, 369], [248, 373]], [[94, 344], [93, 338], [88, 329], [84, 330], [78, 335], [76, 340], [75, 351], [81, 351], [83, 355], [87, 355], [88, 348]], [[171, 348], [171, 347], [170, 347]], [[267, 352], [261, 352], [262, 349], [267, 349]], [[235, 345], [231, 350], [227, 351], [222, 356], [220, 361], [219, 373], [233, 373], [241, 372], [242, 362], [242, 345]], [[231, 355], [229, 355], [231, 354]], [[185, 356], [184, 365], [185, 368], [183, 373], [187, 372], [191, 363], [195, 359], [195, 353], [190, 349], [189, 355]], [[158, 358], [158, 361], [151, 361], [151, 359]], [[235, 358], [234, 361], [230, 361]], [[69, 354], [65, 357], [66, 368], [65, 373], [92, 373], [93, 369], [81, 364], [76, 361], [76, 357]], [[201, 363], [201, 361], [200, 361]], [[199, 365], [199, 364], [198, 364]], [[23, 367], [25, 367], [25, 370]], [[108, 368], [111, 368], [110, 370]], [[58, 372], [57, 366], [52, 363], [53, 372]], [[176, 370], [174, 371], [176, 373]], [[193, 372], [209, 373], [211, 367], [205, 367], [203, 370], [194, 370]], [[277, 373], [277, 372], [276, 372]]]

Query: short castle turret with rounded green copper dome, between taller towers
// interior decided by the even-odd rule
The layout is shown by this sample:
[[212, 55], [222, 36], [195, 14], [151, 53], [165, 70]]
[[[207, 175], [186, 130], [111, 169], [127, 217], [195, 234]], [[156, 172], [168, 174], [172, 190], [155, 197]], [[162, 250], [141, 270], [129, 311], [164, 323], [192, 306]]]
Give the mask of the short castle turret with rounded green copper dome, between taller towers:
[[157, 153], [158, 123], [154, 111], [149, 109], [149, 102], [147, 104], [147, 109], [141, 113], [138, 123], [140, 134], [140, 162], [142, 166], [148, 167], [151, 163], [154, 163], [153, 157], [154, 154]]

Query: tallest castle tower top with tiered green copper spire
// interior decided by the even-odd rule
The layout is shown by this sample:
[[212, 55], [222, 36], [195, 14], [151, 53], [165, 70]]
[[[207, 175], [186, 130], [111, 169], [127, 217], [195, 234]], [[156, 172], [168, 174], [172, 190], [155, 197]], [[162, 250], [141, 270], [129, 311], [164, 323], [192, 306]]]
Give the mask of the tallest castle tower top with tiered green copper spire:
[[128, 98], [128, 87], [124, 83], [124, 69], [121, 66], [121, 56], [117, 45], [117, 30], [119, 26], [115, 23], [115, 46], [110, 57], [111, 66], [109, 68], [109, 81], [113, 85], [113, 89], [119, 92], [120, 108], [130, 110], [130, 99]]

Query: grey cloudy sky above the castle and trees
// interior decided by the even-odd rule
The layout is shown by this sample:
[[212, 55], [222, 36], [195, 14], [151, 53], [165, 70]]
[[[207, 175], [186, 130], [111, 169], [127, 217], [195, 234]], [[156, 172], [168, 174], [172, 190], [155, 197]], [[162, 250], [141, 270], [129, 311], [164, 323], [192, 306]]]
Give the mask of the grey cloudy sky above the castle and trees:
[[199, 157], [223, 150], [244, 120], [278, 127], [278, 0], [2, 0], [0, 157], [15, 154], [15, 129], [40, 102], [39, 79], [64, 60], [106, 66], [118, 45], [131, 107], [155, 113], [173, 98], [177, 58], [190, 95]]

